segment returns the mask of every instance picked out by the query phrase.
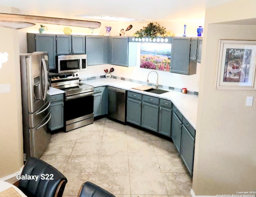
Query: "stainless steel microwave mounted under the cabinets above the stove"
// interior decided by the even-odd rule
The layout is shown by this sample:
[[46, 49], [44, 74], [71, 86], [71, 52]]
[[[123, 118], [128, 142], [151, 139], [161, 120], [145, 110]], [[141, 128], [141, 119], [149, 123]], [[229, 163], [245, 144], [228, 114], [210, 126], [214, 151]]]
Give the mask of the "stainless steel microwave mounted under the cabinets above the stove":
[[87, 68], [87, 55], [57, 55], [57, 67], [54, 73], [84, 71]]

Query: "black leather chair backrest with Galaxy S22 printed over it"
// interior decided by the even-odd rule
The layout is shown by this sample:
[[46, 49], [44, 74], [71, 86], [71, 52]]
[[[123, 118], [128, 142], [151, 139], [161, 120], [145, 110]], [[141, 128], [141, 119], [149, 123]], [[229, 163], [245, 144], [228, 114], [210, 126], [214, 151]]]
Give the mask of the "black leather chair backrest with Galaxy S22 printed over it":
[[[18, 188], [28, 197], [61, 197], [68, 182], [52, 165], [33, 157], [26, 161], [21, 175], [27, 179], [21, 179]], [[38, 180], [29, 180], [31, 175], [38, 175]]]

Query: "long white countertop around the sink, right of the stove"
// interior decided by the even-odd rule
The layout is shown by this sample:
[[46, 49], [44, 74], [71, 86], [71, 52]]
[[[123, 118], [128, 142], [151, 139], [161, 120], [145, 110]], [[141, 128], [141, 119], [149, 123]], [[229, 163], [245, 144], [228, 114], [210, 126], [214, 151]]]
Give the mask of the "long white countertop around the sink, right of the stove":
[[132, 89], [132, 87], [138, 87], [142, 84], [140, 83], [133, 83], [129, 81], [124, 81], [120, 79], [94, 79], [94, 80], [88, 80], [88, 81], [81, 81], [82, 83], [92, 85], [94, 87], [99, 86], [112, 86], [128, 91], [133, 91], [136, 93], [141, 93], [144, 95], [150, 95], [152, 97], [157, 97], [160, 99], [166, 99], [171, 100], [172, 103], [178, 108], [178, 110], [182, 113], [182, 115], [188, 120], [188, 122], [193, 126], [194, 129], [196, 129], [196, 118], [197, 118], [197, 106], [198, 106], [198, 96], [195, 95], [188, 95], [188, 94], [182, 94], [177, 91], [170, 91], [168, 93], [163, 93], [160, 95], [154, 94], [154, 93], [148, 93], [146, 91], [140, 91], [136, 89]]

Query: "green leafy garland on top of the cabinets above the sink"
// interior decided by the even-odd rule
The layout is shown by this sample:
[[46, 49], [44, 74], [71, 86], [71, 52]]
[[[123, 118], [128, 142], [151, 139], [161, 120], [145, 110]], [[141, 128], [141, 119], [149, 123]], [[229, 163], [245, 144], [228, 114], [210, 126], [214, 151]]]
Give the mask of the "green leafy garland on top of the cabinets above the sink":
[[158, 23], [149, 23], [148, 26], [143, 27], [142, 29], [136, 31], [133, 36], [135, 37], [150, 37], [151, 39], [153, 39], [156, 36], [161, 36], [161, 37], [165, 37], [165, 36], [175, 36], [174, 33], [172, 33], [171, 31], [166, 32], [166, 28], [161, 27]]

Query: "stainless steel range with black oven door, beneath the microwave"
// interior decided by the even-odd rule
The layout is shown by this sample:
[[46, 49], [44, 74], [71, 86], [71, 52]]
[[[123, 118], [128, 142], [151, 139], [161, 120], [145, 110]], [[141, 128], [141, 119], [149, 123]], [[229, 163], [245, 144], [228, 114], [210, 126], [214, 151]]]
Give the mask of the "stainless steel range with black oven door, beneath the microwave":
[[93, 123], [93, 86], [79, 82], [79, 73], [50, 76], [51, 87], [65, 91], [64, 126], [66, 132]]

